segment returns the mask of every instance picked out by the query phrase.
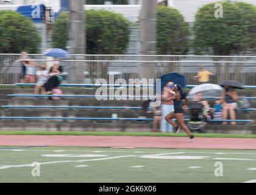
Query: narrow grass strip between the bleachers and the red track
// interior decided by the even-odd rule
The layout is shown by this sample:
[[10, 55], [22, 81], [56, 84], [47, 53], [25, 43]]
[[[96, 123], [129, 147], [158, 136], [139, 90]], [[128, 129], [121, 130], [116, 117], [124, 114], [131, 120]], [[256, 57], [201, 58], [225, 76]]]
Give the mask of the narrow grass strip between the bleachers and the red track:
[[[0, 131], [0, 135], [76, 135], [76, 136], [126, 136], [126, 137], [187, 137], [180, 133], [152, 133], [152, 132], [32, 132], [32, 131]], [[256, 135], [238, 135], [221, 133], [195, 133], [202, 138], [256, 138]]]

